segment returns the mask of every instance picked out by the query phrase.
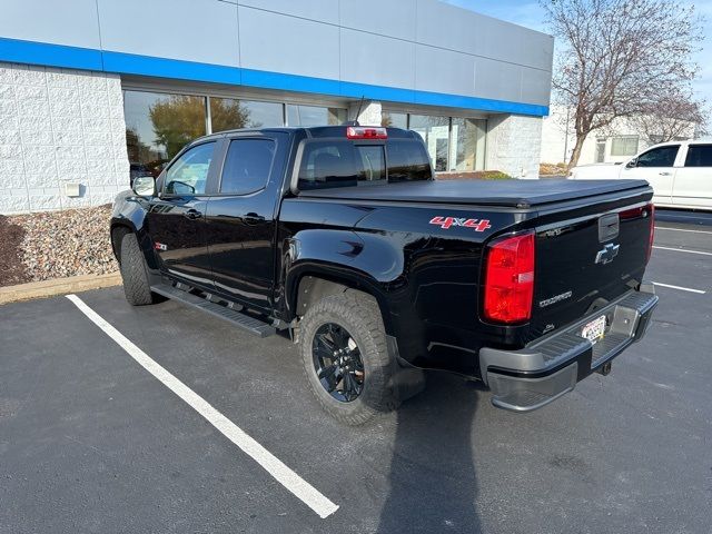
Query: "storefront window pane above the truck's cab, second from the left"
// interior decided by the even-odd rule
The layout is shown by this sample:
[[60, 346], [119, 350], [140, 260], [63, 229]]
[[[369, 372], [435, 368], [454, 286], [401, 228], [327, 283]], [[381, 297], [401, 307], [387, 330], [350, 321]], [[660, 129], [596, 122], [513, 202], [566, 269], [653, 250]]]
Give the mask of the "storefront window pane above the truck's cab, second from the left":
[[210, 123], [212, 132], [284, 126], [283, 107], [278, 102], [210, 97]]

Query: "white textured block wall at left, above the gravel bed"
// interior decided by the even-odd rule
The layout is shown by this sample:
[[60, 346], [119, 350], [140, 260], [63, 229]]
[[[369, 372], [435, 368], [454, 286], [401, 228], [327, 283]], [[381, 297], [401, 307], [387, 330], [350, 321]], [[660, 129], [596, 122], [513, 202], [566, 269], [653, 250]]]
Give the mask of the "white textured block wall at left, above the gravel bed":
[[119, 76], [0, 63], [0, 184], [6, 215], [98, 206], [127, 189]]

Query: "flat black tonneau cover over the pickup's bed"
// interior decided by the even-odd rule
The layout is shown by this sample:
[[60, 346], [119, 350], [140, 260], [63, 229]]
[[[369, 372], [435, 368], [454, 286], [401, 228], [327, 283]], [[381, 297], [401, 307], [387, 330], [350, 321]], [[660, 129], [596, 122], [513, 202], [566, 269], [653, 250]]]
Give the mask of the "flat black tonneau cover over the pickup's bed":
[[300, 191], [304, 198], [477, 204], [530, 208], [647, 187], [645, 180], [433, 180]]

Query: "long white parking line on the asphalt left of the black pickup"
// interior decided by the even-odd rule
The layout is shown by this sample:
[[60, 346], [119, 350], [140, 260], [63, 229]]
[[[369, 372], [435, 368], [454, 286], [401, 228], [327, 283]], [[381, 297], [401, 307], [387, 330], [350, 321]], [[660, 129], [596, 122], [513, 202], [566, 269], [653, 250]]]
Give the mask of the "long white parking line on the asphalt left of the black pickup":
[[89, 320], [101, 328], [107, 336], [113, 339], [146, 370], [158, 378], [166, 387], [168, 387], [168, 389], [178, 395], [191, 408], [205, 417], [208, 423], [220, 431], [245, 454], [261, 465], [267, 473], [290, 491], [304, 504], [316, 512], [319, 517], [328, 517], [338, 510], [336, 504], [287, 467], [279, 458], [253, 439], [245, 431], [209, 405], [201, 396], [171, 375], [165, 367], [151, 359], [144, 350], [134, 345], [119, 330], [87, 306], [77, 295], [67, 295], [67, 298], [75, 303], [75, 305], [89, 318]]

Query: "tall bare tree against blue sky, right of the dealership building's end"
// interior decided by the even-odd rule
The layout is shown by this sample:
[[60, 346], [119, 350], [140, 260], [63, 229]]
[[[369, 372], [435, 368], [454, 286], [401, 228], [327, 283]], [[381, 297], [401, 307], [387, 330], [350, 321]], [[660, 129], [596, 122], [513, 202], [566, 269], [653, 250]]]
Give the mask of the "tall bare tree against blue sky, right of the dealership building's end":
[[692, 53], [702, 40], [694, 7], [669, 0], [541, 1], [557, 39], [554, 91], [573, 108], [570, 167], [591, 131], [689, 90], [698, 72]]

